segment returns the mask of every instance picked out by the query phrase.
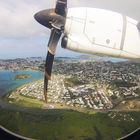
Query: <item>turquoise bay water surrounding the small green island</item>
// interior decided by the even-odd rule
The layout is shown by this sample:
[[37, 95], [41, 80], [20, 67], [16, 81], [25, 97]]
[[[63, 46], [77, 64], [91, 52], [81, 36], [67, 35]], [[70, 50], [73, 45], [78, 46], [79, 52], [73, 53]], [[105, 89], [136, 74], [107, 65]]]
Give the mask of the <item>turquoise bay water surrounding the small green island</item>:
[[[23, 80], [13, 80], [16, 74], [30, 74], [31, 76]], [[12, 72], [12, 71], [0, 71], [0, 97], [7, 94], [7, 92], [32, 81], [43, 78], [42, 72]]]

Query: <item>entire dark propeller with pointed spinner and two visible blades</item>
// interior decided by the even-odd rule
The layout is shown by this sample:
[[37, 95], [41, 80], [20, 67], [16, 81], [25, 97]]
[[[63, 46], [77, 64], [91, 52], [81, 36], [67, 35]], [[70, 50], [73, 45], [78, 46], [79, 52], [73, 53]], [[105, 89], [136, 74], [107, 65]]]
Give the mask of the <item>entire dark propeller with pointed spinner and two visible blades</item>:
[[51, 72], [57, 44], [64, 30], [67, 14], [67, 0], [57, 0], [55, 9], [40, 11], [34, 15], [36, 21], [51, 29], [48, 42], [48, 53], [45, 62], [44, 97], [47, 102], [48, 80], [51, 80]]

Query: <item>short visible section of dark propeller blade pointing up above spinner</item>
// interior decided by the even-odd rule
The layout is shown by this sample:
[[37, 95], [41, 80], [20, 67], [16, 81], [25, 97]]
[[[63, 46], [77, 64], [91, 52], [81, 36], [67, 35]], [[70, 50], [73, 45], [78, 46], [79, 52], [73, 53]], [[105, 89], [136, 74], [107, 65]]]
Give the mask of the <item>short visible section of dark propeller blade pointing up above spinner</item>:
[[55, 13], [66, 17], [66, 10], [67, 10], [67, 0], [57, 0]]

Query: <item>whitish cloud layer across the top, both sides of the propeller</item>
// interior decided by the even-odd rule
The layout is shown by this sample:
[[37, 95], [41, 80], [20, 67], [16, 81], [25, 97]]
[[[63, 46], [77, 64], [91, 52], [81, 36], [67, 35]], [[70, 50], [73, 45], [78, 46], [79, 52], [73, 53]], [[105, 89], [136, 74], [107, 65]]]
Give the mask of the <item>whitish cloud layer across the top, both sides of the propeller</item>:
[[[55, 0], [1, 0], [0, 1], [0, 37], [30, 37], [48, 33], [39, 25], [33, 15], [52, 8]], [[140, 19], [139, 0], [68, 0], [68, 7], [90, 6], [115, 10]]]

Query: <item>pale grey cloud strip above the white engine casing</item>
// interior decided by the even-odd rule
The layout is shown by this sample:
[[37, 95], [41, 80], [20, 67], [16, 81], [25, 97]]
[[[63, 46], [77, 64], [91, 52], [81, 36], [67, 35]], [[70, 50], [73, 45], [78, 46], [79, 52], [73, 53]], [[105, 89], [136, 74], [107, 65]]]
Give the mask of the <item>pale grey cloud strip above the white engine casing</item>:
[[108, 9], [140, 21], [140, 0], [69, 0], [69, 5]]

